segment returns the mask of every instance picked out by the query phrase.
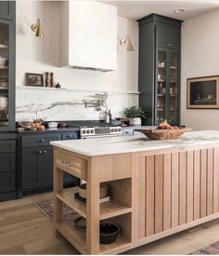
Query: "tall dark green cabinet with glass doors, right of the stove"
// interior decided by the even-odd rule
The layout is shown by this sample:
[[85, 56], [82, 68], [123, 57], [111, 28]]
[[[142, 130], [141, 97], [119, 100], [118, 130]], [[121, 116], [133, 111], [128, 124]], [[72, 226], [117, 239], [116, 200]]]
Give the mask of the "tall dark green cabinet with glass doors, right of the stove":
[[144, 125], [180, 124], [181, 20], [151, 14], [139, 24], [139, 105]]

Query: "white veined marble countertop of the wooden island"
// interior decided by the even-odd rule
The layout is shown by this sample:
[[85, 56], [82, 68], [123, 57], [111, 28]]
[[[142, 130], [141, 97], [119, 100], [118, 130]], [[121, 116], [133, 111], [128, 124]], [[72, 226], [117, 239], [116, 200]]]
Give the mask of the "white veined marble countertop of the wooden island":
[[134, 153], [183, 146], [219, 143], [219, 130], [190, 131], [178, 140], [150, 141], [144, 135], [104, 137], [75, 141], [51, 141], [51, 144], [87, 156]]

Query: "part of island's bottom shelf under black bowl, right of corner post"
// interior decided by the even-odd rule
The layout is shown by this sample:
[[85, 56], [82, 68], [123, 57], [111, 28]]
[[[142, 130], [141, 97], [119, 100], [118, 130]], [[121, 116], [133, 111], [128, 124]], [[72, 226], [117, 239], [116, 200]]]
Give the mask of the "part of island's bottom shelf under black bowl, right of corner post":
[[121, 251], [131, 249], [131, 243], [129, 243], [123, 236], [119, 235], [116, 241], [110, 245], [101, 245], [99, 246], [100, 254], [118, 254], [118, 250]]

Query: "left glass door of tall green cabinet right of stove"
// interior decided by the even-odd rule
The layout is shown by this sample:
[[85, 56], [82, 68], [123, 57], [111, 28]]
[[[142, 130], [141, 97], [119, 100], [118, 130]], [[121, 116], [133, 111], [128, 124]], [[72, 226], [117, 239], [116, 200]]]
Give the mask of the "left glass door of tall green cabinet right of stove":
[[166, 63], [165, 50], [157, 51], [157, 86], [155, 93], [155, 124], [158, 125], [166, 117]]

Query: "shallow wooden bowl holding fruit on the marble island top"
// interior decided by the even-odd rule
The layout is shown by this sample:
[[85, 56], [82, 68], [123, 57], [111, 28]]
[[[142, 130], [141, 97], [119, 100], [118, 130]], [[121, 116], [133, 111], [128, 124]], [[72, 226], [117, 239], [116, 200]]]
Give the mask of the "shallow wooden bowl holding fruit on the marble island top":
[[141, 132], [151, 140], [176, 140], [186, 131], [192, 130], [192, 128], [179, 128], [179, 129], [143, 129], [137, 128], [135, 131]]

